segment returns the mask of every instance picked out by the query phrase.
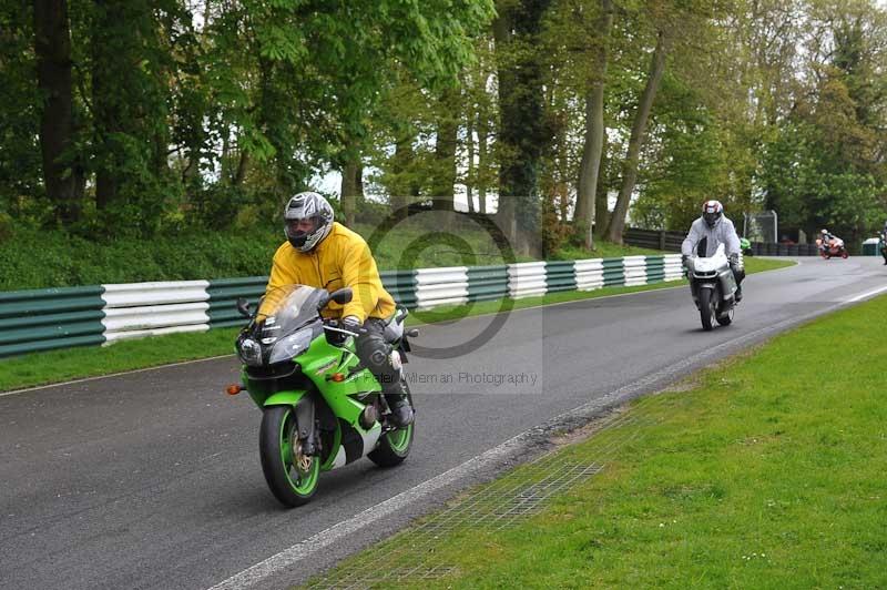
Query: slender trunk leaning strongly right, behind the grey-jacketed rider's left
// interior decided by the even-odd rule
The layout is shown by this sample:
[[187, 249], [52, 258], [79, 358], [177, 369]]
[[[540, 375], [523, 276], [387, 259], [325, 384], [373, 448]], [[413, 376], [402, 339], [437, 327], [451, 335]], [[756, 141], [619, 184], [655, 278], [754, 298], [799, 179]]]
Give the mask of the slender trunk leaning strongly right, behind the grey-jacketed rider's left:
[[622, 163], [622, 187], [619, 191], [616, 206], [610, 220], [606, 235], [610, 242], [622, 243], [622, 231], [625, 227], [625, 216], [629, 213], [631, 195], [634, 192], [634, 184], [638, 181], [638, 161], [641, 154], [641, 146], [644, 142], [646, 122], [650, 119], [650, 111], [653, 108], [653, 99], [656, 96], [659, 84], [662, 81], [662, 73], [665, 71], [665, 35], [662, 31], [656, 38], [656, 49], [650, 63], [650, 75], [646, 79], [638, 112], [634, 114], [634, 123], [629, 139], [629, 153]]

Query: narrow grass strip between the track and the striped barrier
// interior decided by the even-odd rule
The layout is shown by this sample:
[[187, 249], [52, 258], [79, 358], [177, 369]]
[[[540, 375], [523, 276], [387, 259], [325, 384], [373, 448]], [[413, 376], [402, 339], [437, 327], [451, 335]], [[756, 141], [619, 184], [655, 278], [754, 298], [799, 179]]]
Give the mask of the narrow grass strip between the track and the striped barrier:
[[[748, 258], [746, 267], [748, 272], [759, 272], [791, 264], [785, 261]], [[638, 287], [606, 287], [591, 292], [552, 293], [543, 297], [513, 301], [507, 304], [506, 308], [520, 309], [622, 293], [652, 291], [680, 286], [682, 283], [685, 282], [675, 281]], [[470, 306], [414, 312], [410, 317], [411, 324], [427, 324], [496, 313], [501, 307], [501, 302], [482, 302]], [[233, 354], [236, 334], [236, 328], [222, 328], [205, 333], [170, 334], [139, 340], [123, 340], [112, 346], [50, 350], [3, 358], [0, 359], [0, 391]]]

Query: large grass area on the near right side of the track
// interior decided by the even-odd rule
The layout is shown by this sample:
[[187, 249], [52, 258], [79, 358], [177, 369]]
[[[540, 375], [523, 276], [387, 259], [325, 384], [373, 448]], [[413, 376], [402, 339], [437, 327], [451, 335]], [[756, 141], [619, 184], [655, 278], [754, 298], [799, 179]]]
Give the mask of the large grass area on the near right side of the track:
[[880, 297], [635, 401], [555, 455], [602, 472], [504, 531], [441, 536], [456, 573], [401, 586], [884, 588], [885, 317]]

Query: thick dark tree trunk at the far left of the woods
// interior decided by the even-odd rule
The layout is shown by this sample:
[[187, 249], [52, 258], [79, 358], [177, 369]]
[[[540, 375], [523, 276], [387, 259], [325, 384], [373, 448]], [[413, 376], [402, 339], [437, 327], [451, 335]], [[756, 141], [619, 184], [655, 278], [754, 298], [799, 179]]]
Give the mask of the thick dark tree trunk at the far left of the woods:
[[43, 96], [40, 110], [40, 151], [47, 196], [57, 218], [65, 226], [80, 220], [84, 175], [63, 157], [74, 135], [71, 83], [71, 32], [67, 0], [34, 0], [34, 53], [37, 83]]

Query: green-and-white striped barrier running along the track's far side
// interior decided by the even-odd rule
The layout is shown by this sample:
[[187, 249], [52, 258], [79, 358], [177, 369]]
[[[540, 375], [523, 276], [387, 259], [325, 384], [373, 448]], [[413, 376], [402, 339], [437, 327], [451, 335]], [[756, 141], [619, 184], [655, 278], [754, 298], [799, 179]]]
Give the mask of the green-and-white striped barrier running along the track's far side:
[[[386, 291], [410, 308], [682, 277], [676, 254], [381, 273]], [[256, 305], [267, 279], [252, 276], [0, 293], [0, 357], [239, 326], [244, 319], [235, 302], [243, 297]]]

